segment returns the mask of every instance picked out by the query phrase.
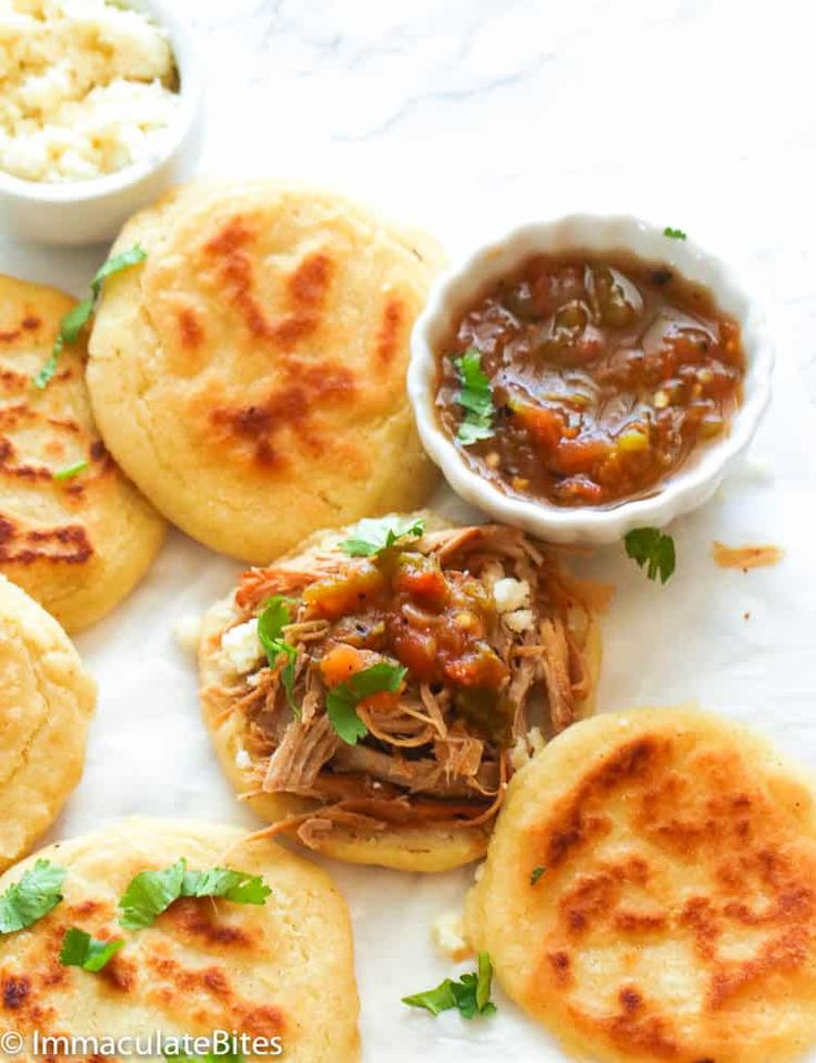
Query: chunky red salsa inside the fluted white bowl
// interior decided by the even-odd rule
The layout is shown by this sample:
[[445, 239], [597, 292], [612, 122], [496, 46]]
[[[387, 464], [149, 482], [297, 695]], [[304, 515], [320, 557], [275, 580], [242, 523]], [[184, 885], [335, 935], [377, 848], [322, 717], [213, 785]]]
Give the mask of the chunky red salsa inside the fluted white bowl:
[[507, 493], [608, 505], [649, 493], [725, 432], [744, 373], [736, 321], [674, 269], [538, 255], [462, 315], [436, 404]]

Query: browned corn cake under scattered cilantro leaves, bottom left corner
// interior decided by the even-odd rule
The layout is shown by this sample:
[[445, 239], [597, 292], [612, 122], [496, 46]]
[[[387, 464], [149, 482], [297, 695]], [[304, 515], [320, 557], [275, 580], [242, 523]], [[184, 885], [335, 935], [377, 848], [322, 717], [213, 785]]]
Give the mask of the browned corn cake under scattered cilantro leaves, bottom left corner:
[[[30, 930], [0, 939], [3, 1025], [42, 1035], [211, 1036], [215, 1030], [281, 1037], [296, 1063], [359, 1059], [357, 993], [349, 912], [326, 873], [234, 828], [128, 820], [51, 845], [0, 878], [0, 891], [34, 859], [67, 869], [64, 900]], [[123, 931], [118, 902], [140, 871], [190, 869], [263, 875], [263, 905], [177, 901], [155, 923]], [[63, 967], [66, 930], [124, 937], [100, 974]], [[20, 1059], [0, 1051], [0, 1060]], [[246, 1056], [249, 1060], [269, 1056]]]

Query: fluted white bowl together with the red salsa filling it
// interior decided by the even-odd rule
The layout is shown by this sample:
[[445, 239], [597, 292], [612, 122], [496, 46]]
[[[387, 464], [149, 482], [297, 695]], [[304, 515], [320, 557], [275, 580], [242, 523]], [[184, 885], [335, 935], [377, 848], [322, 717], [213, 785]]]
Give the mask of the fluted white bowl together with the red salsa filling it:
[[612, 542], [699, 505], [770, 393], [763, 321], [672, 228], [524, 225], [431, 293], [412, 337], [420, 434], [451, 487], [555, 542]]

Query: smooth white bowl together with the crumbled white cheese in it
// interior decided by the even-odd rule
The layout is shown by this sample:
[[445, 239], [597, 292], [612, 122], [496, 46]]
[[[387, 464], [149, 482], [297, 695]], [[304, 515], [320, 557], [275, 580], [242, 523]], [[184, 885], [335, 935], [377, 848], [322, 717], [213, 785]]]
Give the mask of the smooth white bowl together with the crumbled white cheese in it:
[[0, 224], [46, 243], [111, 239], [189, 177], [201, 76], [164, 0], [10, 0], [0, 18]]

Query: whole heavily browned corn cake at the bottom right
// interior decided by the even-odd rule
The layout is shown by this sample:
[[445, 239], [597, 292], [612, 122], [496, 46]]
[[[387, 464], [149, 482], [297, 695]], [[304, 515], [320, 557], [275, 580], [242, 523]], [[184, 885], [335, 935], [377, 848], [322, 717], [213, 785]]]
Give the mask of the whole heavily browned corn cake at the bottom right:
[[466, 924], [582, 1057], [798, 1056], [816, 1039], [812, 781], [694, 710], [580, 723], [511, 783]]

